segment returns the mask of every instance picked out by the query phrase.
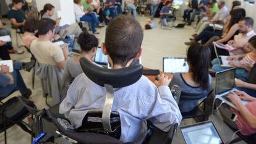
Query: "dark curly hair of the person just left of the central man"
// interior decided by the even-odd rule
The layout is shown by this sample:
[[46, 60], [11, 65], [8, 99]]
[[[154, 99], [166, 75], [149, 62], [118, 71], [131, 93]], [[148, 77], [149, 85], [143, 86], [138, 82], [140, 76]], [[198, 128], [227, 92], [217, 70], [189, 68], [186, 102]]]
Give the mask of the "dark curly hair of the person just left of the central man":
[[80, 33], [77, 43], [79, 43], [82, 51], [90, 51], [92, 50], [92, 48], [98, 46], [99, 41], [98, 38], [95, 37], [95, 35], [84, 31]]

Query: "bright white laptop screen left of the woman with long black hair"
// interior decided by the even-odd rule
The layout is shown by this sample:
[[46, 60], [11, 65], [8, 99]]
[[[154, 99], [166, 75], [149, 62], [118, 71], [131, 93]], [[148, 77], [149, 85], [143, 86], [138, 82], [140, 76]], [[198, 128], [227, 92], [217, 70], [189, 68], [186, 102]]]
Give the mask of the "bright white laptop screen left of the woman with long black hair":
[[186, 73], [189, 72], [189, 65], [184, 57], [163, 57], [163, 72]]

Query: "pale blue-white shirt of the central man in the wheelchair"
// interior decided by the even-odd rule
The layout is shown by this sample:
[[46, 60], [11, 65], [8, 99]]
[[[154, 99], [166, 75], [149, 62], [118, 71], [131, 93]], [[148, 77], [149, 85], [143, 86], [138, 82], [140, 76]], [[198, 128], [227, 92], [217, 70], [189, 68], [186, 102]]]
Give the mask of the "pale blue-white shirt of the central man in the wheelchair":
[[[80, 74], [70, 85], [59, 112], [78, 128], [90, 109], [103, 109], [105, 95], [105, 87]], [[122, 142], [142, 143], [147, 135], [146, 120], [168, 132], [171, 124], [179, 124], [182, 119], [169, 87], [157, 88], [143, 75], [136, 83], [115, 89], [112, 111], [118, 111], [121, 118]]]

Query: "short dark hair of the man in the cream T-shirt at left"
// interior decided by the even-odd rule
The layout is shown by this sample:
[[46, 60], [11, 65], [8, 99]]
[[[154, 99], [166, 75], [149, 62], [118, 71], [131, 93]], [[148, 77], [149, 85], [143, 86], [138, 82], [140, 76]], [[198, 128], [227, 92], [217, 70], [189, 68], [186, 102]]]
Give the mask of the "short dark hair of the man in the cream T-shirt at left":
[[56, 22], [52, 19], [41, 19], [38, 23], [38, 35], [46, 35], [49, 30], [54, 30]]

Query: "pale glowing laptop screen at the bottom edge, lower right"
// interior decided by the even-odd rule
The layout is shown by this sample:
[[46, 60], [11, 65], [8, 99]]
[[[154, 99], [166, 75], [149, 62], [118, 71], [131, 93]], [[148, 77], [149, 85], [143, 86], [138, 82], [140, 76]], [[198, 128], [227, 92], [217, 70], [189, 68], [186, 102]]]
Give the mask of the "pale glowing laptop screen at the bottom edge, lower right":
[[187, 144], [221, 144], [224, 143], [212, 121], [180, 127]]

